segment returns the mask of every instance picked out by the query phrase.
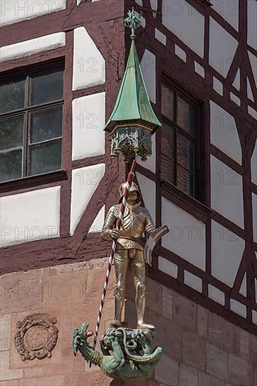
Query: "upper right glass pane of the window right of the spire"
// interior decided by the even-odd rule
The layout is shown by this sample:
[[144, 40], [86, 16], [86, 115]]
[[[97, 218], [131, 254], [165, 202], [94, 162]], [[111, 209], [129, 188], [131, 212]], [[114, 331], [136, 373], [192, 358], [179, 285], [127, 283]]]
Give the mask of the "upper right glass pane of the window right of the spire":
[[195, 107], [177, 98], [177, 124], [191, 135], [195, 133]]

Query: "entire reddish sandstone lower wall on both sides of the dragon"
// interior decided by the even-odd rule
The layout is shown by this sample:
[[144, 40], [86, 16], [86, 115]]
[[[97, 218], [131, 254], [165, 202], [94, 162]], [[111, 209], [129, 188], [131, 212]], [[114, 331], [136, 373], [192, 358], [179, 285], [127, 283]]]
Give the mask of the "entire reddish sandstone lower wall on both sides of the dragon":
[[[1, 277], [0, 386], [256, 386], [257, 337], [148, 279], [146, 321], [157, 328], [165, 353], [150, 380], [111, 380], [72, 353], [72, 332], [87, 320], [95, 328], [106, 259], [33, 269]], [[100, 335], [113, 319], [114, 270]], [[125, 320], [135, 324], [134, 284], [128, 277]], [[56, 317], [52, 357], [22, 361], [16, 323], [31, 314]]]

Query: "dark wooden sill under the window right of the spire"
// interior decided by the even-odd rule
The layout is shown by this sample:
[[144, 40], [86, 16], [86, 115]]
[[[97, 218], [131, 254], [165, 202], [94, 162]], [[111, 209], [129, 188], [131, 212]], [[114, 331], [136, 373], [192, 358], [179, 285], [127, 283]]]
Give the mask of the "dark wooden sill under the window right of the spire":
[[201, 221], [205, 222], [207, 216], [212, 213], [211, 208], [202, 204], [202, 202], [194, 199], [193, 197], [188, 196], [188, 194], [182, 192], [174, 185], [169, 184], [168, 182], [160, 182], [162, 196], [168, 199], [169, 201], [174, 202], [186, 210], [188, 213], [192, 214], [196, 218], [199, 218]]

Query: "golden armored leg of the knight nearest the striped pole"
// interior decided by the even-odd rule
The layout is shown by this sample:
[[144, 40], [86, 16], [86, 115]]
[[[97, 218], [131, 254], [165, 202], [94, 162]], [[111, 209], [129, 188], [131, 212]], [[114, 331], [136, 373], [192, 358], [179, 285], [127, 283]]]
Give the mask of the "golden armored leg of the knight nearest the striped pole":
[[125, 302], [125, 288], [127, 267], [129, 266], [127, 249], [117, 250], [114, 255], [114, 266], [116, 272], [115, 297], [115, 324], [121, 324], [121, 315]]

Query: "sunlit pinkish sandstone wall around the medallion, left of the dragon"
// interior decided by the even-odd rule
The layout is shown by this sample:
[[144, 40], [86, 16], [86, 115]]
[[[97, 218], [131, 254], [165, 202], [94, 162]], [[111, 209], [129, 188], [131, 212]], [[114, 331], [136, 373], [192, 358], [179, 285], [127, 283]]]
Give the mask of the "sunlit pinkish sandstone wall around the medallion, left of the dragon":
[[[106, 273], [106, 259], [6, 274], [1, 277], [1, 386], [109, 385], [110, 379], [81, 354], [74, 357], [72, 334], [88, 321], [95, 329]], [[113, 272], [114, 274], [114, 272]], [[59, 330], [52, 357], [22, 361], [15, 348], [16, 323], [46, 312]], [[113, 275], [99, 334], [113, 318]], [[92, 338], [91, 338], [92, 339]], [[89, 340], [90, 342], [90, 340]]]

